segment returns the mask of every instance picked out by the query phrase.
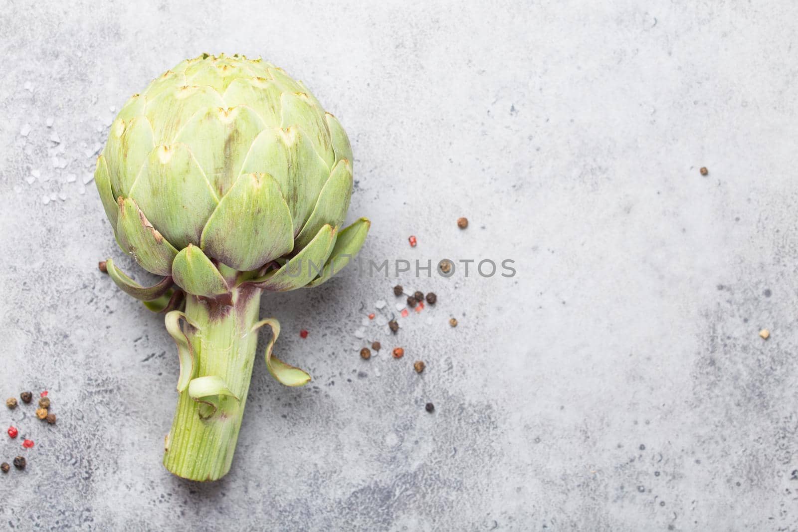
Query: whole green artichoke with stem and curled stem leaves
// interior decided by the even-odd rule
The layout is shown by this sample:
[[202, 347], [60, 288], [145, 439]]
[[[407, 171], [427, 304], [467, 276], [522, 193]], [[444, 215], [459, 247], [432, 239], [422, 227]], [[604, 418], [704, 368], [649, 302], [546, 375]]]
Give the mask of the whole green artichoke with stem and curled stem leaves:
[[229, 471], [258, 331], [267, 368], [310, 380], [272, 355], [279, 322], [259, 320], [264, 290], [326, 282], [358, 253], [369, 220], [342, 228], [352, 148], [341, 124], [282, 69], [240, 55], [181, 62], [133, 95], [95, 171], [117, 243], [161, 277], [114, 282], [165, 313], [177, 344], [179, 400], [164, 465], [187, 479]]

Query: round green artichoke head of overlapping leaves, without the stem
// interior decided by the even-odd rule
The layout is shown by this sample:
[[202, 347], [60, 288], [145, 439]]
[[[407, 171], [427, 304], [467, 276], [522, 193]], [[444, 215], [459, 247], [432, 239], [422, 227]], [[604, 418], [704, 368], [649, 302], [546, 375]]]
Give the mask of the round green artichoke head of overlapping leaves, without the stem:
[[133, 95], [95, 179], [119, 246], [164, 279], [143, 288], [113, 262], [109, 274], [156, 310], [236, 282], [316, 286], [369, 230], [341, 228], [353, 183], [341, 124], [301, 81], [239, 55], [188, 59]]

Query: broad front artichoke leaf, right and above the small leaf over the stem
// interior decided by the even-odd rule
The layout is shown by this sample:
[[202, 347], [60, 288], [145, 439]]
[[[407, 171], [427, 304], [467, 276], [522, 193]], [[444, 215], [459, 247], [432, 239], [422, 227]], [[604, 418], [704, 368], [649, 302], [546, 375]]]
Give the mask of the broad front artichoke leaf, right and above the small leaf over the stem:
[[244, 174], [208, 219], [200, 244], [236, 270], [255, 270], [294, 249], [294, 228], [279, 183], [269, 174]]

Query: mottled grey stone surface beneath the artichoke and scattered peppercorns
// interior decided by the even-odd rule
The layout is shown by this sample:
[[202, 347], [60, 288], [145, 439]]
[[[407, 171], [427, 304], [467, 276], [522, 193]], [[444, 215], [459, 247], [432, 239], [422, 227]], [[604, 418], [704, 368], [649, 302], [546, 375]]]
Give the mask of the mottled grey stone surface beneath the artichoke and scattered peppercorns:
[[[796, 17], [788, 0], [4, 0], [0, 390], [49, 389], [59, 423], [0, 412], [37, 442], [0, 478], [0, 526], [798, 530]], [[354, 336], [376, 301], [397, 312], [395, 278], [264, 298], [314, 382], [283, 388], [259, 357], [211, 484], [160, 464], [176, 349], [97, 271], [136, 268], [84, 183], [111, 108], [204, 51], [262, 55], [340, 118], [364, 258], [517, 270], [402, 274], [439, 302], [397, 337], [365, 328], [401, 361], [361, 361]]]

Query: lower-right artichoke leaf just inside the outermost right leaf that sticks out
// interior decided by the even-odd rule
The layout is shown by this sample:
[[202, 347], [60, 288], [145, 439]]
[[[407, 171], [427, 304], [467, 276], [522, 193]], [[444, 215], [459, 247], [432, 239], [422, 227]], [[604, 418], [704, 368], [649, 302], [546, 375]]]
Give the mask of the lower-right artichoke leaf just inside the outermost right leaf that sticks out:
[[316, 237], [279, 270], [247, 281], [263, 290], [287, 292], [302, 288], [324, 270], [324, 264], [335, 243], [336, 231], [326, 225]]

